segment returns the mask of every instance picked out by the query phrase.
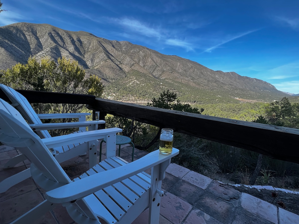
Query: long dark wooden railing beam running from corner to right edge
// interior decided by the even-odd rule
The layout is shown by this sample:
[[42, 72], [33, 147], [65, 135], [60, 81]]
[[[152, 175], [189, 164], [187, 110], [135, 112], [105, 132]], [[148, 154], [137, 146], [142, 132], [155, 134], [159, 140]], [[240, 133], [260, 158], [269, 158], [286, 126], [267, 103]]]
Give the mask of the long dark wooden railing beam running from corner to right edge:
[[299, 129], [96, 98], [89, 109], [299, 163]]

